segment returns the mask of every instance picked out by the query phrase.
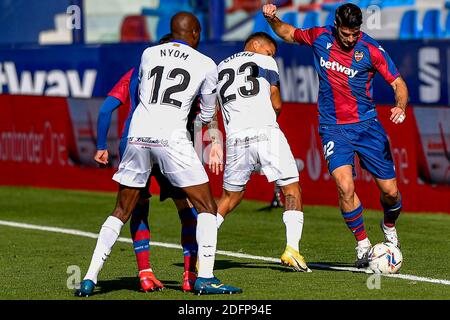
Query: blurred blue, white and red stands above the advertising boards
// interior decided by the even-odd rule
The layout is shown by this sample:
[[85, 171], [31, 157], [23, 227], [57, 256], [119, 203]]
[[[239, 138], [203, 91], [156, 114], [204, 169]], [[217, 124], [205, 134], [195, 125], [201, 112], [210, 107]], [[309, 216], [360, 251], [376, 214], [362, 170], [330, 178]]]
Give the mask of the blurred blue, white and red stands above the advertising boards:
[[[202, 41], [241, 41], [253, 31], [272, 33], [261, 14], [266, 2], [0, 0], [0, 45], [154, 42], [169, 32], [170, 17], [180, 10], [199, 17]], [[450, 0], [271, 1], [283, 21], [299, 28], [332, 24], [336, 7], [346, 2], [363, 9], [363, 30], [376, 39], [450, 38]], [[80, 17], [75, 32], [67, 27], [68, 14]]]

